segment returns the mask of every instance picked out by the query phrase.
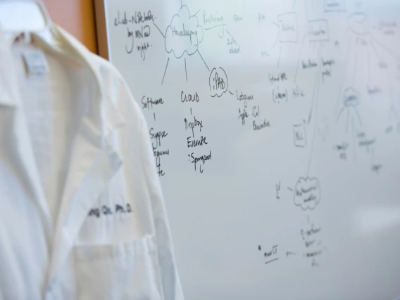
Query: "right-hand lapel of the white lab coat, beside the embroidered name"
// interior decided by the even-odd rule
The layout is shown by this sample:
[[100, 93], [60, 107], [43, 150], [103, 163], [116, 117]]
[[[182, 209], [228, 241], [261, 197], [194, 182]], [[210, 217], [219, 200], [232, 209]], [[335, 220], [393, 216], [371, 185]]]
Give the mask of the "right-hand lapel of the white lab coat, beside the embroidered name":
[[[111, 99], [104, 95], [99, 65], [92, 54], [66, 32], [55, 28], [63, 43], [70, 46], [82, 58], [96, 77], [98, 92], [96, 99], [88, 99], [91, 108], [82, 118], [75, 135], [70, 156], [70, 169], [65, 182], [61, 210], [58, 214], [56, 234], [51, 252], [47, 284], [51, 285], [73, 248], [89, 208], [120, 168], [122, 161], [113, 149], [110, 136], [125, 124]], [[113, 108], [113, 109], [111, 109]]]

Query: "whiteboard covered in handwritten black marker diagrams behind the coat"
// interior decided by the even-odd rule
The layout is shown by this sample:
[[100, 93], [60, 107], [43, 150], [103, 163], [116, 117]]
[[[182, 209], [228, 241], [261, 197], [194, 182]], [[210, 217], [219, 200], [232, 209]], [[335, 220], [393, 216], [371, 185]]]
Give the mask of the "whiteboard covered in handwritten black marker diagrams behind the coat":
[[399, 299], [399, 1], [106, 0], [103, 18], [185, 299]]

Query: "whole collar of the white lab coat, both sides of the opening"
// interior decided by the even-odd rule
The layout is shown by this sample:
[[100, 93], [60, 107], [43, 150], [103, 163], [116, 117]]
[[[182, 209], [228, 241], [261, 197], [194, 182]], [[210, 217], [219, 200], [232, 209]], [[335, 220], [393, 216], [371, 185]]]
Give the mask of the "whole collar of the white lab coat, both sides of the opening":
[[[95, 99], [88, 99], [90, 107], [81, 120], [71, 148], [70, 166], [52, 239], [50, 265], [46, 280], [46, 285], [49, 287], [68, 258], [75, 238], [87, 216], [87, 211], [104, 192], [108, 181], [122, 165], [120, 155], [113, 149], [111, 133], [125, 125], [125, 120], [113, 104], [113, 99], [105, 94], [101, 64], [94, 59], [94, 54], [91, 54], [85, 46], [56, 25], [51, 25], [46, 32], [31, 33], [31, 35], [37, 44], [42, 44], [49, 50], [61, 54], [74, 56], [85, 63], [96, 79], [97, 90]], [[8, 39], [0, 36], [0, 65], [6, 65], [6, 70], [0, 72], [0, 109], [1, 106], [11, 106], [15, 108], [11, 111], [16, 112], [19, 111], [20, 99], [17, 77], [13, 73], [13, 56], [11, 54], [11, 44], [14, 40], [15, 36]], [[16, 147], [19, 150], [17, 152], [24, 171], [31, 170], [28, 176], [30, 185], [37, 189], [39, 175], [35, 170], [32, 147], [27, 146], [25, 142], [27, 139], [25, 117], [21, 112], [14, 113], [14, 116], [18, 119], [14, 120], [14, 125], [18, 124], [19, 126], [18, 128], [15, 126], [11, 130], [13, 132], [11, 135], [14, 135], [14, 139], [17, 141]], [[22, 129], [21, 124], [23, 125]], [[34, 194], [37, 195], [37, 198], [42, 198], [38, 200], [39, 208], [42, 208], [44, 216], [49, 218], [49, 211], [46, 210], [46, 201], [43, 197], [44, 193], [37, 189]], [[51, 224], [51, 222], [48, 223]]]

